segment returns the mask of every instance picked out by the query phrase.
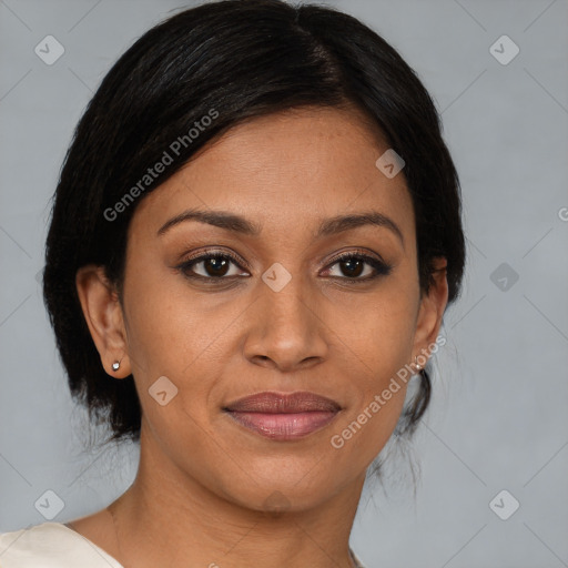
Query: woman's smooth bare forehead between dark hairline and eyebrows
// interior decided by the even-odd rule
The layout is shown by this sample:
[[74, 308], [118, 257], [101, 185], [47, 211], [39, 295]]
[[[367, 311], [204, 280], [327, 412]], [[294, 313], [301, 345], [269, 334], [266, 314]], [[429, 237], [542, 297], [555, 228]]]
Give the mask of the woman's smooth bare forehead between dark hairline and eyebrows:
[[[133, 224], [155, 232], [186, 209], [231, 211], [271, 231], [313, 233], [321, 220], [375, 210], [414, 235], [403, 173], [375, 162], [388, 150], [361, 114], [295, 109], [239, 124], [205, 145], [140, 203]], [[306, 233], [307, 234], [307, 233]]]

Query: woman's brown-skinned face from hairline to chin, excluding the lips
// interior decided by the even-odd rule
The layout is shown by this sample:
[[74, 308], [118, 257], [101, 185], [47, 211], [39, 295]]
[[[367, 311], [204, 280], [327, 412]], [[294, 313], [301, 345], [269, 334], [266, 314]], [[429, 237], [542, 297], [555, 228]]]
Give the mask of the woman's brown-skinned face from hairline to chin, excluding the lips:
[[[420, 296], [404, 174], [375, 165], [387, 148], [347, 111], [273, 114], [234, 128], [138, 205], [122, 306], [90, 327], [105, 367], [120, 358], [133, 373], [159, 467], [253, 509], [275, 491], [313, 507], [364, 477], [406, 385], [382, 394], [435, 341], [447, 298], [445, 277]], [[315, 393], [341, 409], [275, 438], [224, 410], [261, 392]]]

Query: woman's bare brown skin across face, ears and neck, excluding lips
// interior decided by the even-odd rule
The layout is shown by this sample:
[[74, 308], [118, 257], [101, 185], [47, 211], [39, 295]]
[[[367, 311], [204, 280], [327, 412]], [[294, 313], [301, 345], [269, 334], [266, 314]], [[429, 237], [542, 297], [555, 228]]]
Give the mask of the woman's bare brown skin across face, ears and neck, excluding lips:
[[[404, 174], [388, 179], [375, 166], [387, 148], [354, 111], [255, 119], [138, 204], [122, 302], [102, 268], [79, 271], [101, 362], [116, 379], [133, 373], [143, 418], [138, 475], [110, 506], [118, 530], [109, 508], [71, 528], [125, 567], [352, 566], [366, 468], [398, 420], [404, 384], [342, 448], [331, 437], [436, 341], [447, 304], [444, 258], [420, 295]], [[262, 230], [252, 236], [186, 221], [156, 234], [190, 207], [232, 212]], [[323, 220], [368, 210], [390, 217], [404, 243], [371, 224], [314, 239]], [[234, 252], [247, 266], [231, 264], [216, 284], [185, 277], [176, 266], [205, 246]], [[392, 272], [353, 283], [374, 268], [354, 273], [331, 261], [357, 248]], [[274, 263], [292, 276], [280, 292], [262, 280]], [[214, 275], [209, 268], [193, 266]], [[165, 406], [148, 393], [161, 376], [178, 387]], [[275, 442], [222, 412], [262, 390], [311, 390], [342, 410], [316, 433]], [[284, 511], [271, 513], [275, 500]]]

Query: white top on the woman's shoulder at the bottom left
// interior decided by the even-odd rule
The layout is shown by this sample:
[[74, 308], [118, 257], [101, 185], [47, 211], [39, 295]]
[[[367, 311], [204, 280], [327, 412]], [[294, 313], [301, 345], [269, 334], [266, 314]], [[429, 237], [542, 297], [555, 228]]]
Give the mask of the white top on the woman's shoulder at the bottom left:
[[[365, 568], [353, 552], [358, 568]], [[0, 568], [124, 568], [102, 548], [62, 523], [0, 534]]]

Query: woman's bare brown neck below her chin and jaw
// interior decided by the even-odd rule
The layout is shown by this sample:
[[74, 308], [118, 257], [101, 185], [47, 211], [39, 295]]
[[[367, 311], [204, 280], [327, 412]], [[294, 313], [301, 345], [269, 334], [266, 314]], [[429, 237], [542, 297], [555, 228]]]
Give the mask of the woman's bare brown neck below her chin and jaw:
[[143, 428], [136, 478], [109, 506], [124, 568], [355, 566], [348, 541], [364, 475], [314, 507], [274, 491], [258, 510], [180, 471], [150, 444]]

